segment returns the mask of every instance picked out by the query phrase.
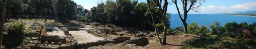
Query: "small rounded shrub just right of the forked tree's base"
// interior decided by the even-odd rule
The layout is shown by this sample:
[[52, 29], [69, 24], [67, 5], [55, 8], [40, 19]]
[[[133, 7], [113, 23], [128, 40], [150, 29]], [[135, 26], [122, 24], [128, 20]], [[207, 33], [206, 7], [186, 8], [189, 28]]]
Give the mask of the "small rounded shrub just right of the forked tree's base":
[[188, 30], [188, 33], [190, 34], [200, 35], [198, 33], [199, 27], [197, 26], [196, 22], [192, 22], [191, 24], [188, 24], [187, 30]]

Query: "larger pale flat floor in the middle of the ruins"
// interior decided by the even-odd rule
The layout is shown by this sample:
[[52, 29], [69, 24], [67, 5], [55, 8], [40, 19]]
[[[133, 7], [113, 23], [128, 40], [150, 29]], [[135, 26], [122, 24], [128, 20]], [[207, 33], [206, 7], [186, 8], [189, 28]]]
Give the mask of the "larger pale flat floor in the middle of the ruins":
[[69, 33], [75, 38], [77, 39], [78, 43], [85, 43], [85, 42], [95, 42], [98, 40], [103, 40], [105, 38], [102, 37], [96, 37], [92, 34], [89, 34], [86, 31], [69, 31]]

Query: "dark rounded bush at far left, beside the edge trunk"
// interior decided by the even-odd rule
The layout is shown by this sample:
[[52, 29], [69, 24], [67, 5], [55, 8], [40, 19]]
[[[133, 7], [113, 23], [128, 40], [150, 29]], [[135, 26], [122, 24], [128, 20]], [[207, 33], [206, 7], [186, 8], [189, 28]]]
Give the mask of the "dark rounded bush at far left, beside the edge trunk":
[[7, 47], [15, 47], [19, 45], [19, 43], [23, 39], [23, 33], [25, 30], [25, 23], [22, 21], [15, 21], [12, 22], [11, 24], [7, 25], [7, 37], [6, 37], [6, 42], [4, 44]]

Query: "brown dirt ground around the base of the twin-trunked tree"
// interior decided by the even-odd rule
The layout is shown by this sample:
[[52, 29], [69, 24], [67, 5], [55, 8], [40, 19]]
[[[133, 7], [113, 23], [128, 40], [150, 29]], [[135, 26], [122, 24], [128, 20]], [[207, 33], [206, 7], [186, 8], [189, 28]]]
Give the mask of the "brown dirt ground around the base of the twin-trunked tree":
[[167, 45], [161, 45], [159, 41], [157, 41], [157, 37], [153, 37], [154, 40], [150, 40], [150, 43], [146, 46], [131, 46], [131, 45], [122, 45], [120, 44], [106, 44], [93, 46], [89, 49], [177, 49], [182, 48], [184, 46], [184, 42], [186, 40], [197, 38], [195, 35], [189, 36], [181, 36], [181, 35], [168, 35], [167, 36]]

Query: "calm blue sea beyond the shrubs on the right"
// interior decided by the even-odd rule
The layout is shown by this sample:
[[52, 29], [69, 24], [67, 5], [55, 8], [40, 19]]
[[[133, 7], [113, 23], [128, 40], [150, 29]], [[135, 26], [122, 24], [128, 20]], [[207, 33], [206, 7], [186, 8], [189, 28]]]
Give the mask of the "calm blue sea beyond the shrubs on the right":
[[[188, 14], [187, 23], [196, 22], [198, 26], [205, 25], [209, 28], [210, 24], [214, 21], [220, 22], [221, 26], [223, 26], [227, 22], [236, 21], [237, 23], [247, 22], [251, 24], [256, 22], [256, 17], [251, 16], [237, 16], [237, 15], [222, 15], [222, 14]], [[170, 16], [170, 27], [176, 28], [183, 26], [182, 21], [180, 20], [178, 14], [171, 14]]]

